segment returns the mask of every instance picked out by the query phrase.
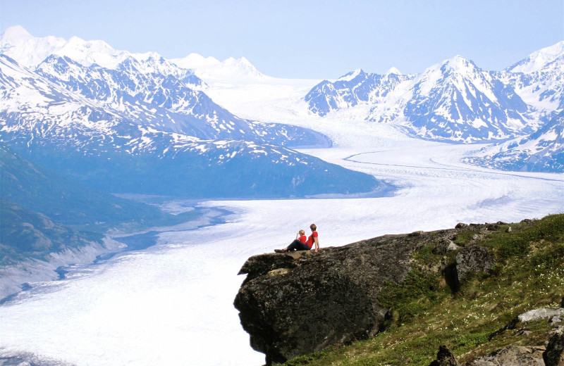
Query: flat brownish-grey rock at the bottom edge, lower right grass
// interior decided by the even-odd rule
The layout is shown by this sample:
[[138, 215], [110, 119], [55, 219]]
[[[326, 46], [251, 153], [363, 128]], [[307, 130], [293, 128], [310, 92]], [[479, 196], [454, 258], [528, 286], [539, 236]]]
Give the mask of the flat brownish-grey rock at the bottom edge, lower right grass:
[[544, 366], [544, 347], [509, 346], [467, 362], [465, 366]]

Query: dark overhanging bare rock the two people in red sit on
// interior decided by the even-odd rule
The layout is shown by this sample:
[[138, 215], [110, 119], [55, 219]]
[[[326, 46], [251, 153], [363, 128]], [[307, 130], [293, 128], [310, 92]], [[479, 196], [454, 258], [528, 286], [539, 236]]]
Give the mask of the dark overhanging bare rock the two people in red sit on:
[[234, 305], [252, 348], [271, 364], [374, 336], [388, 313], [381, 289], [405, 278], [410, 254], [424, 244], [421, 234], [388, 235], [249, 258]]

